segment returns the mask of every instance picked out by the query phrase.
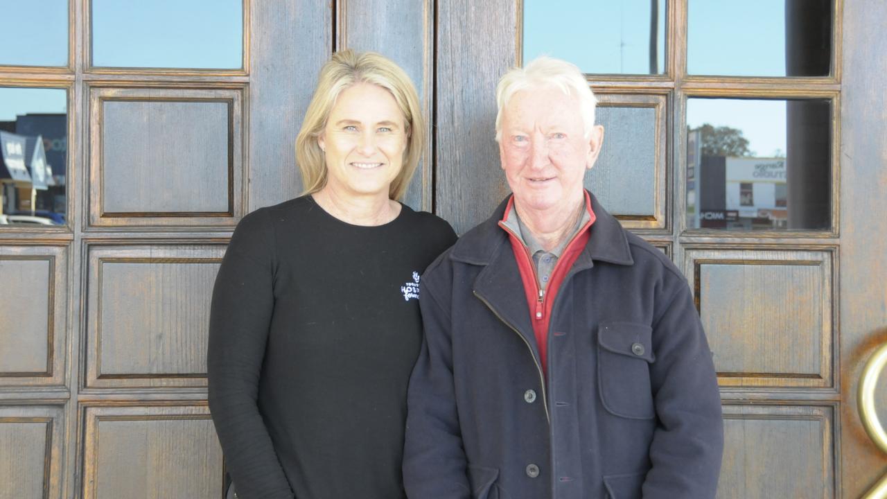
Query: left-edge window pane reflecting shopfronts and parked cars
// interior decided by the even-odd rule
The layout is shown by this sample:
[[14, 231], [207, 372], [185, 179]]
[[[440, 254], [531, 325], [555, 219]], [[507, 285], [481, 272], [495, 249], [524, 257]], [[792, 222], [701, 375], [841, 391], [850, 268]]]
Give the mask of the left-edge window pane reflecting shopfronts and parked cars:
[[67, 92], [0, 88], [0, 226], [64, 225]]

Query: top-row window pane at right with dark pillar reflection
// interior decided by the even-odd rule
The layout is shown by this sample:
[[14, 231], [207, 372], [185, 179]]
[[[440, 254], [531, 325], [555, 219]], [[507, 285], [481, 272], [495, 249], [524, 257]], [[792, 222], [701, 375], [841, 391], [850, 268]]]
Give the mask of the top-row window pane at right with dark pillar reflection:
[[687, 74], [828, 76], [831, 0], [687, 3]]

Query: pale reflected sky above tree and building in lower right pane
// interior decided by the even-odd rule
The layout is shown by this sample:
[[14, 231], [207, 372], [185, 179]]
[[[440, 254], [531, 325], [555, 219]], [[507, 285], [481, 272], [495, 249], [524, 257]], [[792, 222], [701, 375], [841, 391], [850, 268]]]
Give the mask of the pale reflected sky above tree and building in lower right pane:
[[687, 126], [709, 123], [742, 130], [753, 156], [786, 152], [785, 100], [687, 99]]

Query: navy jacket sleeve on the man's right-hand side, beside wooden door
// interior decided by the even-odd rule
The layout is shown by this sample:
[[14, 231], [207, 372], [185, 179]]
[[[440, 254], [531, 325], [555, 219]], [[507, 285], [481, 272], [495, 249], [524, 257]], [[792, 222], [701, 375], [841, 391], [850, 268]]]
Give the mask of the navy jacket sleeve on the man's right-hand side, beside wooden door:
[[650, 378], [658, 421], [643, 496], [710, 499], [724, 448], [718, 380], [687, 281], [670, 277], [653, 325]]

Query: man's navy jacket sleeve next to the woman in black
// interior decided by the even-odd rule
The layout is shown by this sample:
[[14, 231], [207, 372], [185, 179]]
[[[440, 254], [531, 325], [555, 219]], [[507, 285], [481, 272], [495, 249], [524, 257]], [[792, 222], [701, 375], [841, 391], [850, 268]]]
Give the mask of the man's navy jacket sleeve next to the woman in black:
[[425, 338], [407, 393], [404, 488], [410, 499], [467, 499], [471, 491], [453, 385], [450, 311], [433, 291], [439, 284], [436, 266], [422, 276]]

